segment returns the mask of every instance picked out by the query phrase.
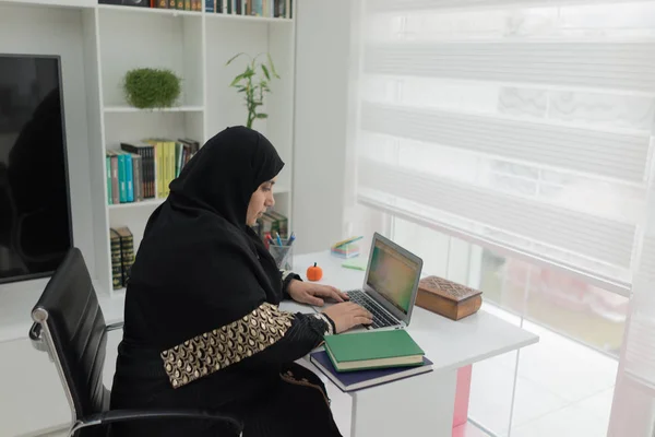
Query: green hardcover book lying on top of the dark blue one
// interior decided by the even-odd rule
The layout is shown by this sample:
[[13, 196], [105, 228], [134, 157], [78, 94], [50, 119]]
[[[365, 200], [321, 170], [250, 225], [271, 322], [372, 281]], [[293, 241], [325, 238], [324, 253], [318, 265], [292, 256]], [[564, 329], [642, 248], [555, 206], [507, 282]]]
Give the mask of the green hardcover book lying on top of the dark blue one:
[[325, 351], [337, 371], [419, 366], [425, 355], [404, 329], [327, 335]]

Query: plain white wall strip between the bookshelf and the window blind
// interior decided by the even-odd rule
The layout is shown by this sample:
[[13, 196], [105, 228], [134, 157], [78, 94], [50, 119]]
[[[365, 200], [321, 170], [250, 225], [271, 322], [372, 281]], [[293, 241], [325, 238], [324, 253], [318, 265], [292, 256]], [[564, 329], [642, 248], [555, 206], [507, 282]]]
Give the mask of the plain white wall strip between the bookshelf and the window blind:
[[298, 253], [343, 236], [350, 2], [297, 4], [294, 231]]

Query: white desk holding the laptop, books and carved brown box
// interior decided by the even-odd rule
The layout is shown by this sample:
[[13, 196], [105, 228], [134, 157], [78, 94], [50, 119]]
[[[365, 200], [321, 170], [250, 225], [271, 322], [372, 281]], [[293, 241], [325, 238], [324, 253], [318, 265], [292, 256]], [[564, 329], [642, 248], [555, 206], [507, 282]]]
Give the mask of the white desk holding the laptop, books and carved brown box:
[[[357, 288], [364, 283], [365, 272], [342, 268], [343, 260], [327, 251], [295, 257], [294, 270], [305, 277], [305, 271], [314, 262], [323, 269], [321, 283], [341, 290]], [[295, 303], [284, 303], [282, 308], [313, 312], [311, 307]], [[457, 369], [538, 341], [537, 335], [484, 310], [452, 321], [416, 307], [408, 332], [434, 363], [433, 371], [346, 394], [306, 358], [302, 361], [325, 382], [333, 399], [335, 421], [344, 435], [451, 436]], [[350, 416], [344, 417], [347, 408]]]

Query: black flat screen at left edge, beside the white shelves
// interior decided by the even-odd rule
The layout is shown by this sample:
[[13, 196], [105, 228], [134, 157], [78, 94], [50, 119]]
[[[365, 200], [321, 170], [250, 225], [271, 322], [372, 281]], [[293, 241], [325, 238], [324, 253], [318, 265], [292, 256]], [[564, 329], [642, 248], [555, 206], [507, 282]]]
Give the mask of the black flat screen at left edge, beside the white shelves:
[[0, 54], [0, 283], [49, 276], [71, 248], [57, 56]]

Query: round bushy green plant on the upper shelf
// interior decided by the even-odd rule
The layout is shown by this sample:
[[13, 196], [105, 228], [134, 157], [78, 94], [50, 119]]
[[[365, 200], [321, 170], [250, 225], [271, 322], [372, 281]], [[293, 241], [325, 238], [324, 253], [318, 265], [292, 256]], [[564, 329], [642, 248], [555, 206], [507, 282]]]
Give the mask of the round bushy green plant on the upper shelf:
[[180, 96], [180, 78], [170, 70], [134, 69], [126, 73], [123, 91], [128, 103], [138, 108], [170, 107]]

